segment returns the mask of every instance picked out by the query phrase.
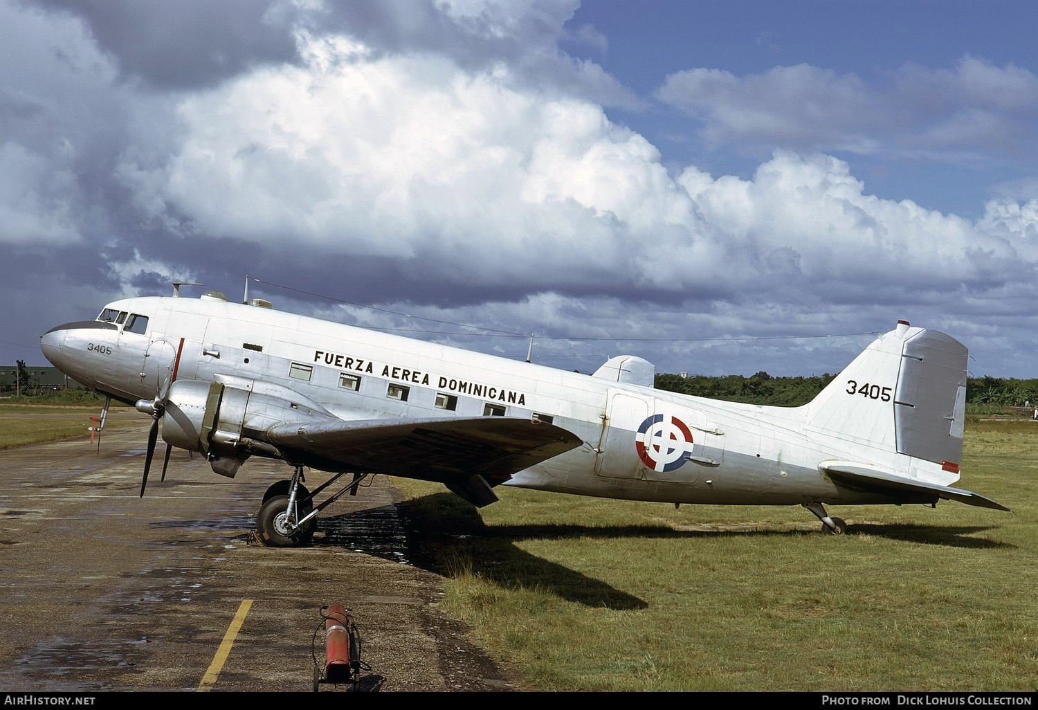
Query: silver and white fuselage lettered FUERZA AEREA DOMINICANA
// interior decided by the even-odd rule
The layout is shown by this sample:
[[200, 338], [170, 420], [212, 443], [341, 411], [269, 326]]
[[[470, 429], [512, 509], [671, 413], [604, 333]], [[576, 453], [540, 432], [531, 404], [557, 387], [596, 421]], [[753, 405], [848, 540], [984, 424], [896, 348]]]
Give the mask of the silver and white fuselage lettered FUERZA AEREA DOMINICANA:
[[[810, 405], [717, 402], [218, 300], [131, 298], [106, 311], [127, 316], [54, 328], [43, 350], [70, 377], [125, 402], [156, 398], [172, 379], [265, 382], [347, 420], [550, 417], [582, 440], [507, 485], [667, 502], [873, 503], [896, 500], [838, 487], [819, 465], [846, 459], [945, 485], [958, 477], [866, 434], [811, 430]], [[146, 325], [131, 326], [133, 316]]]

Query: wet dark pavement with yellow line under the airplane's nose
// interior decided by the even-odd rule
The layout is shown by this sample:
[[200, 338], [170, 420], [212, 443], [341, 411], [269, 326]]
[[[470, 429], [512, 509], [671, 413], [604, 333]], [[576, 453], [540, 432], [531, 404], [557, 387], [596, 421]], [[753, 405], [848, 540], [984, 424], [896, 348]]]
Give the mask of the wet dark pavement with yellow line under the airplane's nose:
[[334, 603], [363, 639], [359, 690], [518, 689], [407, 564], [428, 550], [408, 548], [388, 479], [326, 509], [312, 546], [268, 548], [255, 511], [291, 469], [251, 460], [230, 481], [174, 452], [160, 482], [160, 440], [141, 499], [147, 425], [113, 413], [100, 456], [85, 437], [0, 452], [0, 690], [196, 690], [243, 600], [214, 691], [311, 691]]

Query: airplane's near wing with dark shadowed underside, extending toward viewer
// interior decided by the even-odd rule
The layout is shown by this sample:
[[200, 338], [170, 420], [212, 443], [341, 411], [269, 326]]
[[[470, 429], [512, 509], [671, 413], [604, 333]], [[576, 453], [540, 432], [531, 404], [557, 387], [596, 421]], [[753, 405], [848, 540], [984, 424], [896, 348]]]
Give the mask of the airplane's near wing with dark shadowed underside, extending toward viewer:
[[267, 438], [293, 463], [436, 481], [479, 507], [512, 474], [581, 444], [561, 427], [503, 416], [295, 421]]

